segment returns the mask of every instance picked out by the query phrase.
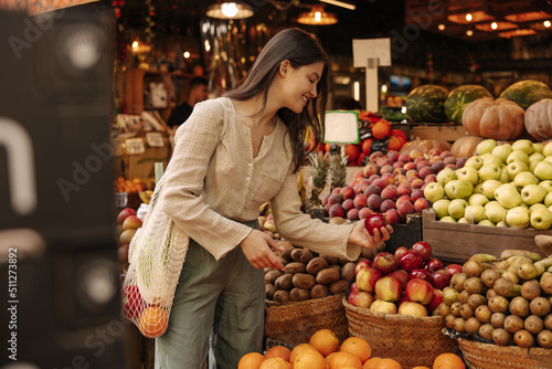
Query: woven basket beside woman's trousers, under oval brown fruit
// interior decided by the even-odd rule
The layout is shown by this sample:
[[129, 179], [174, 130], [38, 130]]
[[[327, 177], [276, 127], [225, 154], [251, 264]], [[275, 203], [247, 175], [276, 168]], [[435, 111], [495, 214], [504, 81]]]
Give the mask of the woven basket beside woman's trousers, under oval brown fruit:
[[330, 329], [340, 342], [349, 337], [347, 317], [341, 304], [344, 294], [294, 303], [265, 304], [265, 336], [287, 347], [308, 342], [318, 329]]

